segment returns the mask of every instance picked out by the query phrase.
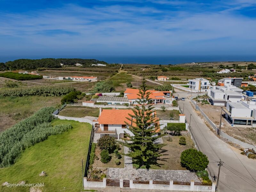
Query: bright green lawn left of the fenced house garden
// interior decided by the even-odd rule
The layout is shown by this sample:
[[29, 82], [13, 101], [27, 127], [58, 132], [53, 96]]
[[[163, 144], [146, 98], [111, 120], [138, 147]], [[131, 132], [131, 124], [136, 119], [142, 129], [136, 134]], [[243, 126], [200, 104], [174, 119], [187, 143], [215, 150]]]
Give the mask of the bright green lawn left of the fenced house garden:
[[[0, 191], [27, 192], [29, 187], [7, 188], [2, 183], [44, 183], [44, 192], [81, 191], [82, 164], [86, 159], [92, 125], [77, 121], [52, 121], [52, 125], [72, 124], [73, 129], [61, 135], [49, 136], [43, 142], [26, 149], [11, 167], [0, 169]], [[39, 173], [46, 172], [46, 177]]]

